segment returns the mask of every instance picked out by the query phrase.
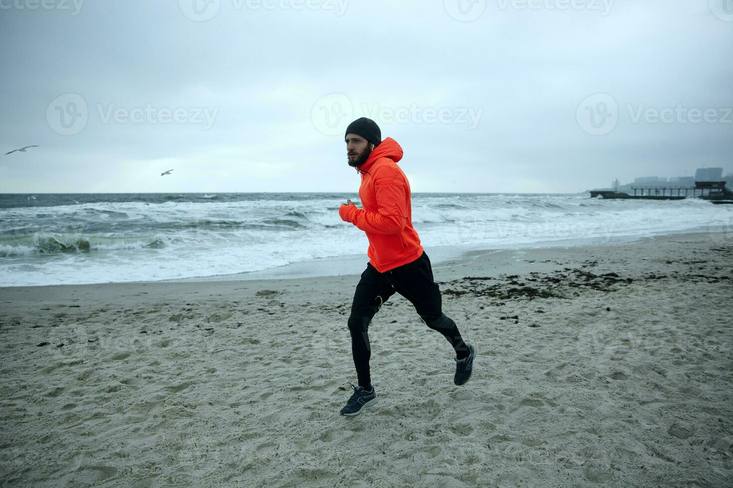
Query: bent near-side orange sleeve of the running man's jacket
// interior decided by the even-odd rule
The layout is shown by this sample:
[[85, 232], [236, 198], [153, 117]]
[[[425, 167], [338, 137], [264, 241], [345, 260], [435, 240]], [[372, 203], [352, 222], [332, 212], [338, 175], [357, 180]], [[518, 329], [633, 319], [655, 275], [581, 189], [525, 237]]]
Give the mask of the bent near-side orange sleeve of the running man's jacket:
[[399, 234], [407, 225], [407, 195], [405, 181], [399, 171], [380, 168], [375, 174], [377, 211], [371, 212], [344, 205], [339, 209], [341, 218], [366, 232]]

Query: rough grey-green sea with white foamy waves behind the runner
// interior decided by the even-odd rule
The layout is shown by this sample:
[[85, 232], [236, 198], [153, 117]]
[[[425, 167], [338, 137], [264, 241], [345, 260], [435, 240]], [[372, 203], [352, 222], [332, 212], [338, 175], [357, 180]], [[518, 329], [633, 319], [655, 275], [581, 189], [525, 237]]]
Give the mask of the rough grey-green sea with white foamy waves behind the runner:
[[[348, 256], [364, 264], [367, 237], [339, 218], [347, 198], [361, 206], [353, 193], [0, 195], [0, 286], [222, 277]], [[732, 214], [723, 207], [588, 193], [415, 193], [412, 222], [426, 249], [454, 258], [721, 230]]]

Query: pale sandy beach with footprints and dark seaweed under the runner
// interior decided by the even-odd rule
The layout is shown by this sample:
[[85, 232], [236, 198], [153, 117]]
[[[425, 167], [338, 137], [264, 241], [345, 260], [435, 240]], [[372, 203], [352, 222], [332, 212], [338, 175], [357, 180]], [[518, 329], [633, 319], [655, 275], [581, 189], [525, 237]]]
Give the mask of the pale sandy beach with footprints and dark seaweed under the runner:
[[474, 376], [395, 295], [355, 418], [358, 275], [0, 288], [0, 486], [733, 485], [729, 233], [434, 272]]

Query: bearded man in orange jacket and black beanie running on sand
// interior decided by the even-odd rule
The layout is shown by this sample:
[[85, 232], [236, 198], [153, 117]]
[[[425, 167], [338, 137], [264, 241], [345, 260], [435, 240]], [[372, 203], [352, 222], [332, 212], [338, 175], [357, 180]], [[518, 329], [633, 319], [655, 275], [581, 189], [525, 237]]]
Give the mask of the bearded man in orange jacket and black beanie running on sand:
[[339, 208], [345, 222], [364, 230], [369, 239], [369, 263], [356, 285], [349, 331], [358, 386], [341, 409], [356, 416], [377, 402], [369, 376], [369, 323], [395, 292], [414, 306], [430, 329], [445, 337], [456, 353], [453, 382], [463, 385], [473, 372], [474, 346], [465, 344], [454, 321], [442, 312], [441, 290], [433, 281], [430, 259], [412, 225], [410, 183], [397, 165], [402, 148], [392, 138], [382, 140], [379, 126], [370, 119], [353, 121], [346, 129], [349, 165], [361, 175], [359, 198], [364, 209], [348, 200]]

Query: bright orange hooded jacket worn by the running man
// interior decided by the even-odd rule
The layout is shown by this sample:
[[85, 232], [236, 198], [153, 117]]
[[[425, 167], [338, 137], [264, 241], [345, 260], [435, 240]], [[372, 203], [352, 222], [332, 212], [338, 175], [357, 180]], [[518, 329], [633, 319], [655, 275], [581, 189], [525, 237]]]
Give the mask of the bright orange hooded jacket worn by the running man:
[[359, 198], [363, 209], [342, 205], [339, 216], [364, 230], [369, 239], [369, 263], [385, 273], [422, 255], [420, 238], [412, 226], [410, 182], [397, 166], [402, 148], [386, 138], [356, 170], [361, 173]]

